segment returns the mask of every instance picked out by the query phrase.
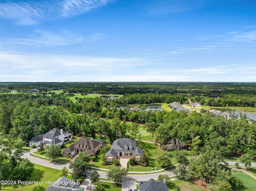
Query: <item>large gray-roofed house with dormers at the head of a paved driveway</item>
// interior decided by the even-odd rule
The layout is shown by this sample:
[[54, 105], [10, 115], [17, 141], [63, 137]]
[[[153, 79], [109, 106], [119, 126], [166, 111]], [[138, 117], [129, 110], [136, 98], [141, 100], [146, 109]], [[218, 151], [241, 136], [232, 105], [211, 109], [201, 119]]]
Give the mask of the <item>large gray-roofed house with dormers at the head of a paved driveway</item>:
[[143, 150], [136, 147], [136, 141], [129, 138], [114, 140], [111, 149], [106, 153], [105, 160], [113, 161], [119, 158], [134, 158], [142, 161]]

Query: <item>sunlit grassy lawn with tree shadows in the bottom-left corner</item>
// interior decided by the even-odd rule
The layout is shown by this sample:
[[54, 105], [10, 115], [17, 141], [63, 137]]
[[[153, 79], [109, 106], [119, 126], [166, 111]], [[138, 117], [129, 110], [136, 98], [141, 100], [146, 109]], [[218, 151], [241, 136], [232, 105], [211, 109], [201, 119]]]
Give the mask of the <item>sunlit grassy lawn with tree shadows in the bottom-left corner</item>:
[[[2, 190], [17, 190], [17, 191], [44, 191], [48, 184], [45, 181], [56, 181], [60, 177], [60, 170], [44, 167], [41, 165], [34, 164], [34, 172], [30, 178], [26, 181], [38, 181], [37, 185], [3, 185]], [[67, 176], [72, 179], [70, 175]], [[42, 185], [39, 185], [39, 181], [43, 181]]]

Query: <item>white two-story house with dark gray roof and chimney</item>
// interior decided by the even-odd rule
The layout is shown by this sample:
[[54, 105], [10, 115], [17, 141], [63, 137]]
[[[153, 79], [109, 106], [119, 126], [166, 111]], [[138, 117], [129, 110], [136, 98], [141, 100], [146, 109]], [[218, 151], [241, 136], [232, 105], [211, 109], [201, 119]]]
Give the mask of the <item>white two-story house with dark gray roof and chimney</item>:
[[53, 128], [52, 130], [48, 131], [46, 134], [41, 134], [35, 136], [32, 140], [29, 141], [30, 146], [35, 144], [39, 146], [40, 142], [42, 141], [44, 144], [54, 144], [61, 146], [64, 141], [72, 140], [73, 134], [64, 131], [63, 129]]

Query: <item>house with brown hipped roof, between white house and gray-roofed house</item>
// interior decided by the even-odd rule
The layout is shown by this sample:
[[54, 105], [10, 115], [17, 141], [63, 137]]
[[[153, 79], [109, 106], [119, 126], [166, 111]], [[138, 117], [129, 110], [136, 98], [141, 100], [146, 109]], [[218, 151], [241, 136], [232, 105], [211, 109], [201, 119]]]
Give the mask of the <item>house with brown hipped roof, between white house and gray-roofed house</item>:
[[64, 156], [72, 156], [74, 154], [78, 154], [80, 152], [86, 152], [91, 157], [95, 156], [100, 150], [101, 143], [93, 140], [92, 138], [80, 138], [72, 145], [67, 147], [63, 151]]

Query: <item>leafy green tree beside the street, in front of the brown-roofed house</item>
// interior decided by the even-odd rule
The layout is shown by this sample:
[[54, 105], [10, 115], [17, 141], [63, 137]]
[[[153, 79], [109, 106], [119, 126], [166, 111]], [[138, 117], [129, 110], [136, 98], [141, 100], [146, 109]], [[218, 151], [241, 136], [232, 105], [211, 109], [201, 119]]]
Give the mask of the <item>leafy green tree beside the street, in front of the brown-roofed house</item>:
[[90, 160], [90, 155], [88, 155], [86, 152], [80, 152], [74, 161], [70, 162], [69, 168], [73, 169], [72, 177], [75, 180], [82, 177], [84, 171], [86, 170], [86, 166], [90, 163]]

